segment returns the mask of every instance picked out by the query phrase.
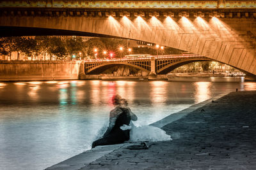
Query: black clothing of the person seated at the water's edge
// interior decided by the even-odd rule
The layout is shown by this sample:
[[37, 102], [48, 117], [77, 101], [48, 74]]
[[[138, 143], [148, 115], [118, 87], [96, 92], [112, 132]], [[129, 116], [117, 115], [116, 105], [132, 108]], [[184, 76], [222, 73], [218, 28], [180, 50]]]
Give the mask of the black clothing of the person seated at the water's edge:
[[131, 121], [131, 116], [129, 110], [122, 108], [122, 113], [117, 117], [115, 126], [109, 132], [108, 136], [98, 139], [92, 143], [92, 148], [99, 145], [113, 145], [118, 143], [124, 143], [130, 139], [130, 130], [122, 131], [120, 126], [129, 125]]

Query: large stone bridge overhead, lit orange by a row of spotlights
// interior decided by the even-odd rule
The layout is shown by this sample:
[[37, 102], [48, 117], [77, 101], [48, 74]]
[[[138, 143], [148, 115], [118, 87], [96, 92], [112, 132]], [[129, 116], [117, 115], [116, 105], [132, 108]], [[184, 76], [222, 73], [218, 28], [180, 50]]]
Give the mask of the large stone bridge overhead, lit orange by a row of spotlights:
[[[0, 2], [0, 36], [35, 35], [134, 39], [195, 53], [256, 74], [253, 0]], [[148, 64], [134, 66], [148, 70]], [[163, 73], [163, 67], [158, 66], [156, 73]]]

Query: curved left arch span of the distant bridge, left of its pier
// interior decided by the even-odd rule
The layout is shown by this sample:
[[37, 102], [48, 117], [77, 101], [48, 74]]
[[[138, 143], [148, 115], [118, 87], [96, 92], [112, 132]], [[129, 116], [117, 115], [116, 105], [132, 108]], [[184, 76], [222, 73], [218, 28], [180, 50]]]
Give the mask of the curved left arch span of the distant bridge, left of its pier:
[[92, 69], [88, 69], [87, 71], [85, 71], [86, 74], [100, 74], [103, 73], [104, 71], [106, 71], [107, 69], [111, 68], [111, 67], [115, 67], [115, 66], [131, 66], [134, 67], [136, 69], [140, 69], [141, 71], [145, 71], [147, 73], [150, 73], [150, 71], [148, 69], [145, 69], [143, 67], [140, 66], [136, 66], [135, 64], [130, 64], [130, 63], [125, 63], [125, 62], [109, 62], [106, 64], [100, 64], [99, 66], [95, 66], [92, 67]]

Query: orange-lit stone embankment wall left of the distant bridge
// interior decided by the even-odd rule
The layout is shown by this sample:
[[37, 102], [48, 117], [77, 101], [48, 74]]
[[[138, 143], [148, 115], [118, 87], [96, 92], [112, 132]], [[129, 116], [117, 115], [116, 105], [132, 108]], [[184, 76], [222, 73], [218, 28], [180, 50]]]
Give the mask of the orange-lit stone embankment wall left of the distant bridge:
[[0, 81], [77, 80], [79, 62], [0, 61]]

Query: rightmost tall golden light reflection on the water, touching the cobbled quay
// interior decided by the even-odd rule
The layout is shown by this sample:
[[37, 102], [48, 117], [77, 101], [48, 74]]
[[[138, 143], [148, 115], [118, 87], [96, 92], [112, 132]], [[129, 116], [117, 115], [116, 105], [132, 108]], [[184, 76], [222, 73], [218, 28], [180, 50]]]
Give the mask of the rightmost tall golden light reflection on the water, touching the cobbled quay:
[[211, 97], [211, 82], [195, 82], [195, 103], [206, 101]]

